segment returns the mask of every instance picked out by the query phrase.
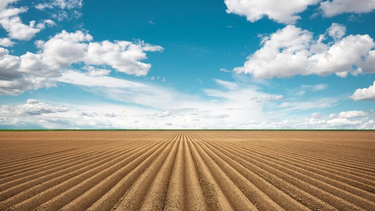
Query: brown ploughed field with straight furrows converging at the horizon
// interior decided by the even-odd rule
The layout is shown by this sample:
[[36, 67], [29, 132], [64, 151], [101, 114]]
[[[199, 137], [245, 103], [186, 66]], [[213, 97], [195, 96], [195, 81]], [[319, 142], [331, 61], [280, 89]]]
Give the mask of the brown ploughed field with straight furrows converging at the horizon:
[[371, 131], [0, 132], [0, 210], [375, 211]]

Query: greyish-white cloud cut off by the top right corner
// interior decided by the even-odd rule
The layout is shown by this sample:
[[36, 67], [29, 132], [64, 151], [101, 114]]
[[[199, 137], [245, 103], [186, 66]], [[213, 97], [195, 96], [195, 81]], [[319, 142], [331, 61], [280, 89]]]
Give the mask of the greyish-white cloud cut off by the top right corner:
[[367, 13], [375, 9], [375, 0], [326, 0], [320, 3], [326, 17], [342, 13]]

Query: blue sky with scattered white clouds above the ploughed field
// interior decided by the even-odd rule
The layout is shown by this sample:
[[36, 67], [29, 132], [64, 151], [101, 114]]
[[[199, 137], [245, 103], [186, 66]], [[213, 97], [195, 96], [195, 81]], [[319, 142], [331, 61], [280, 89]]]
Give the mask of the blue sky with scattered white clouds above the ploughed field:
[[375, 0], [0, 0], [0, 128], [375, 129]]

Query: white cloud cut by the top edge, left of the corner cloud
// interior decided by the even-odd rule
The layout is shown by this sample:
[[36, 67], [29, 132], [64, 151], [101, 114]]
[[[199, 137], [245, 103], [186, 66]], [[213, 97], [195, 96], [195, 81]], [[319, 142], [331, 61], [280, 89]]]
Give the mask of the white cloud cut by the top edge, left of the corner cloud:
[[280, 23], [294, 23], [301, 17], [309, 5], [320, 0], [224, 0], [227, 13], [246, 16], [248, 21], [255, 22], [268, 16], [271, 20]]

